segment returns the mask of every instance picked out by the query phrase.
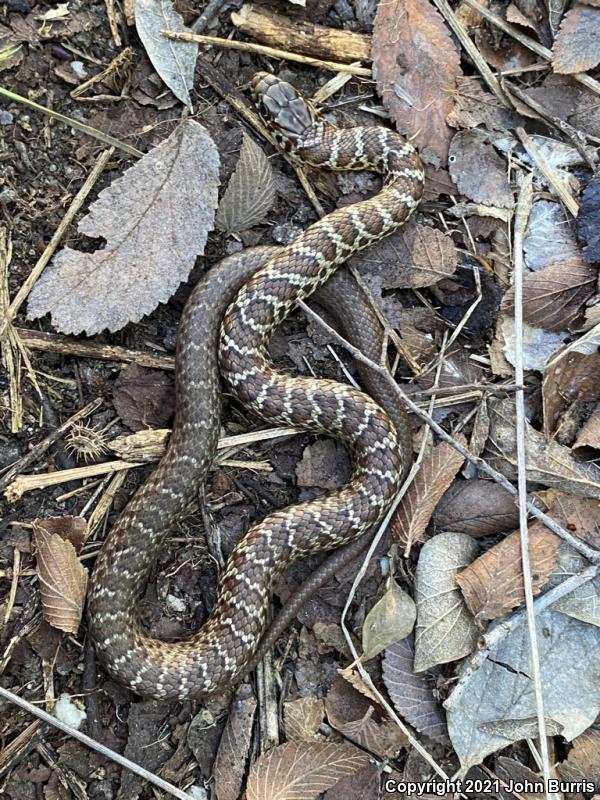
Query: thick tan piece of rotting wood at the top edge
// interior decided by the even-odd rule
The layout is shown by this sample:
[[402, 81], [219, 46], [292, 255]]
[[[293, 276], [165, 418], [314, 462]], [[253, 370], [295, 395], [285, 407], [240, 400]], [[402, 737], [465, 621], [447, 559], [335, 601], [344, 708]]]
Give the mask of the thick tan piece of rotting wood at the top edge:
[[270, 47], [348, 64], [371, 60], [371, 37], [353, 31], [293, 19], [252, 3], [234, 11], [231, 21], [246, 36]]

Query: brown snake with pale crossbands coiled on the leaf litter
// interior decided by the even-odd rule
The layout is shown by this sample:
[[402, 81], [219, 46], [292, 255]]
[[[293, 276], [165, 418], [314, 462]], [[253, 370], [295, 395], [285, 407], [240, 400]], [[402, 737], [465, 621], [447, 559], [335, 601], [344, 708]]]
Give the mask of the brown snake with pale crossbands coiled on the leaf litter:
[[[351, 341], [360, 338], [362, 322], [370, 330], [378, 327], [363, 320], [369, 306], [353, 302], [338, 268], [406, 222], [422, 195], [423, 164], [399, 133], [375, 125], [338, 127], [274, 75], [255, 75], [252, 91], [261, 116], [294, 161], [317, 169], [371, 170], [383, 180], [374, 196], [334, 209], [285, 247], [252, 248], [223, 259], [186, 303], [167, 449], [106, 537], [88, 591], [88, 628], [100, 661], [117, 681], [155, 698], [202, 697], [240, 680], [262, 652], [282, 572], [313, 553], [356, 550], [386, 513], [412, 452], [403, 410], [392, 419], [389, 409], [353, 386], [280, 371], [269, 342], [297, 301], [326, 292], [328, 281], [338, 281], [329, 307], [345, 315]], [[380, 346], [375, 335], [371, 358], [381, 358]], [[137, 605], [167, 536], [212, 465], [220, 376], [238, 403], [269, 424], [340, 440], [351, 455], [352, 475], [336, 490], [253, 524], [229, 555], [202, 627], [186, 639], [164, 641], [145, 630]], [[376, 383], [373, 375], [369, 380]], [[385, 394], [381, 383], [379, 390]], [[385, 397], [382, 402], [387, 405]]]

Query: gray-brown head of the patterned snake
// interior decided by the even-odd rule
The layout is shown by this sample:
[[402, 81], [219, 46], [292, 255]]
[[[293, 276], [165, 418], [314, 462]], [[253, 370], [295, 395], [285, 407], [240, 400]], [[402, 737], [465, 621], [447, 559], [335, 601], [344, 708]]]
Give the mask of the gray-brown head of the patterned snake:
[[289, 153], [305, 147], [318, 122], [313, 105], [298, 90], [269, 72], [257, 72], [251, 84], [261, 117]]

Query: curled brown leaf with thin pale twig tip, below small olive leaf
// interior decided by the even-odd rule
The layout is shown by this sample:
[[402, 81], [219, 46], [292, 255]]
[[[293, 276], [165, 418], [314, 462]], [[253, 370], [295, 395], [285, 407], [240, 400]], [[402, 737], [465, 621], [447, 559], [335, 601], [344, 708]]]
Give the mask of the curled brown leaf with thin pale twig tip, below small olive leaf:
[[381, 720], [377, 708], [343, 678], [336, 678], [325, 699], [327, 719], [336, 730], [367, 750], [395, 756], [406, 737], [392, 720]]

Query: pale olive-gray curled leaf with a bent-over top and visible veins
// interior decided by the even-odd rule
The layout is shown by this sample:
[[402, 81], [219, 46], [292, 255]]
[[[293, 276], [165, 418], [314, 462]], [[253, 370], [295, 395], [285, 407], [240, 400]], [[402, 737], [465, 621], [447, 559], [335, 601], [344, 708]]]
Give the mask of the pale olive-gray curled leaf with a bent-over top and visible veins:
[[474, 650], [479, 629], [454, 578], [478, 549], [464, 533], [439, 533], [421, 548], [415, 573], [415, 672], [456, 661]]

